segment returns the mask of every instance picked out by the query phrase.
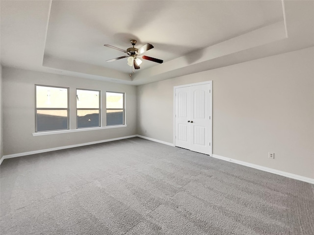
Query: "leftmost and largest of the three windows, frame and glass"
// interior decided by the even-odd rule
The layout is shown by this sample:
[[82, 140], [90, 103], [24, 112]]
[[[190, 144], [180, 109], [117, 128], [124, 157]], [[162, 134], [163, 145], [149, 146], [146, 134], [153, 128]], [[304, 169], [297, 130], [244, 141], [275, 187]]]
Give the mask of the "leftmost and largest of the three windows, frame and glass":
[[35, 85], [35, 131], [69, 129], [69, 88]]

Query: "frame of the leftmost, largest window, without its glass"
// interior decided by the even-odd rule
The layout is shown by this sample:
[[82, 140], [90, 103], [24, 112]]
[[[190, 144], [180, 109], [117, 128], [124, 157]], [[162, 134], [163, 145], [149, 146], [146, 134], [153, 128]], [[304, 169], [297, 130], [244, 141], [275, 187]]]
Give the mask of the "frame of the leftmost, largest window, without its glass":
[[[37, 86], [67, 89], [67, 101], [68, 101], [67, 102], [67, 108], [37, 108]], [[35, 133], [70, 130], [70, 88], [69, 87], [61, 87], [61, 86], [35, 84], [34, 90], [35, 90]], [[66, 110], [67, 111], [67, 128], [66, 129], [54, 129], [54, 130], [38, 131], [37, 130], [37, 122], [38, 122], [37, 121], [37, 118], [38, 118], [37, 117], [37, 111], [38, 110]]]

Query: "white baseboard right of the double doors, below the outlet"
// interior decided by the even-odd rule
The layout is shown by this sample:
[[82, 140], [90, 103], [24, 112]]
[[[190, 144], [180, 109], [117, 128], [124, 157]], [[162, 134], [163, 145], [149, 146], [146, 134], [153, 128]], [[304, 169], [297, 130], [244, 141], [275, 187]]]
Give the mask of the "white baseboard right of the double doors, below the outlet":
[[239, 161], [239, 160], [235, 160], [235, 159], [232, 159], [232, 158], [226, 158], [226, 157], [223, 157], [223, 156], [220, 156], [220, 155], [216, 155], [216, 154], [213, 154], [212, 157], [220, 159], [220, 160], [224, 160], [224, 161], [227, 161], [227, 162], [235, 163], [235, 164], [245, 165], [245, 166], [248, 166], [248, 167], [251, 167], [251, 168], [255, 168], [255, 169], [258, 169], [258, 170], [262, 170], [262, 171], [266, 171], [266, 172], [269, 172], [269, 173], [285, 176], [285, 177], [288, 177], [288, 178], [291, 178], [291, 179], [294, 179], [294, 180], [300, 180], [300, 181], [303, 181], [303, 182], [314, 184], [314, 179], [312, 179], [312, 178], [291, 174], [291, 173], [288, 173], [288, 172], [285, 172], [285, 171], [281, 171], [281, 170], [275, 170], [275, 169], [264, 167], [264, 166], [261, 166], [261, 165], [256, 165], [256, 164], [242, 162], [242, 161]]

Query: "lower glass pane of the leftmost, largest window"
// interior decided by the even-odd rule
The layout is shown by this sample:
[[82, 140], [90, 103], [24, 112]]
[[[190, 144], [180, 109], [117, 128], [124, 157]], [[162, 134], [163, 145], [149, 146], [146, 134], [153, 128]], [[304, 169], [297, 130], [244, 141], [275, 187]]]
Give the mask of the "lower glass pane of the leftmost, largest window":
[[67, 110], [37, 110], [37, 130], [52, 131], [68, 129]]

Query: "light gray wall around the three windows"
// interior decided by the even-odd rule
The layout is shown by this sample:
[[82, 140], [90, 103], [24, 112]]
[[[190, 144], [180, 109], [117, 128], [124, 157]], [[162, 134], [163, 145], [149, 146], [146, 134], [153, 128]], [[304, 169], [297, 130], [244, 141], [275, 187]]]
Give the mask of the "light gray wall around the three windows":
[[[70, 129], [76, 128], [76, 89], [126, 93], [127, 127], [32, 136], [35, 132], [35, 85], [70, 88]], [[57, 74], [2, 68], [3, 155], [126, 137], [136, 134], [136, 87]], [[105, 118], [105, 109], [102, 119]]]

